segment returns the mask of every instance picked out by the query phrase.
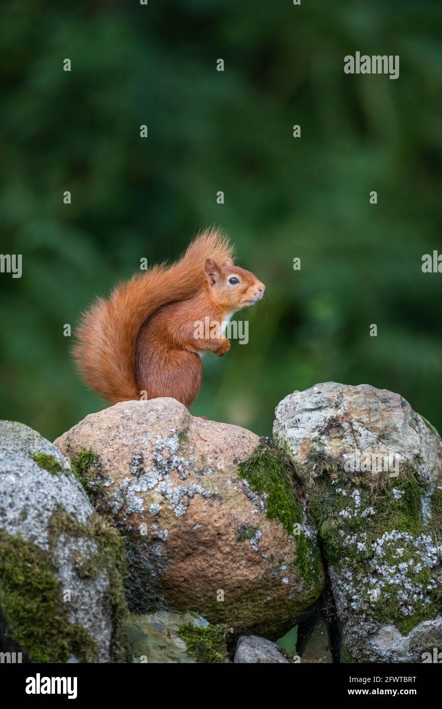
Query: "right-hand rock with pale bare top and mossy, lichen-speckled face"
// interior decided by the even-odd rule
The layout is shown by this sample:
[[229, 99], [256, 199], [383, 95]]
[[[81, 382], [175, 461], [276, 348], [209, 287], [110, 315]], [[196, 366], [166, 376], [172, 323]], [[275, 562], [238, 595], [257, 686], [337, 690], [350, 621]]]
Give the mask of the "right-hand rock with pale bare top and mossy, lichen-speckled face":
[[275, 438], [304, 486], [343, 661], [421, 661], [442, 644], [442, 442], [402, 397], [318, 384], [280, 403]]

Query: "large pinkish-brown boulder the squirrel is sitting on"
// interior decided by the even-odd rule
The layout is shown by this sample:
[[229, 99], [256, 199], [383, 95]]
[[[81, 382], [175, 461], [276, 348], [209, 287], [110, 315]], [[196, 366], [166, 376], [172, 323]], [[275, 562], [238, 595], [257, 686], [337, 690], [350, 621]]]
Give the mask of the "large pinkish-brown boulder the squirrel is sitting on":
[[91, 414], [55, 443], [126, 537], [136, 613], [195, 611], [276, 639], [319, 597], [316, 534], [270, 441], [158, 398]]

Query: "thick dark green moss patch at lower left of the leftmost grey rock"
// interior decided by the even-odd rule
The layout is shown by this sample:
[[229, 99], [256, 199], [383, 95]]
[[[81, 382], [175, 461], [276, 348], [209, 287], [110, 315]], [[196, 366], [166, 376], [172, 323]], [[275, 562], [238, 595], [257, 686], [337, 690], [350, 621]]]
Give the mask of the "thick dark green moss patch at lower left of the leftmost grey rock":
[[9, 634], [32, 662], [65, 662], [74, 655], [94, 662], [87, 630], [67, 620], [49, 552], [0, 532], [0, 607]]

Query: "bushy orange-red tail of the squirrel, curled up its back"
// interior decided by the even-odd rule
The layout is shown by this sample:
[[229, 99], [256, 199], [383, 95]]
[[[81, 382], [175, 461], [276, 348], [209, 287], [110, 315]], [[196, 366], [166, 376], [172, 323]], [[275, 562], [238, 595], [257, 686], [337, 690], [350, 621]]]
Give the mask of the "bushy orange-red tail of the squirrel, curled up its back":
[[77, 330], [74, 357], [86, 383], [111, 403], [140, 398], [135, 376], [136, 341], [141, 325], [167, 303], [189, 298], [204, 279], [207, 258], [232, 257], [227, 238], [207, 230], [171, 266], [155, 266], [119, 284], [108, 300], [97, 298]]

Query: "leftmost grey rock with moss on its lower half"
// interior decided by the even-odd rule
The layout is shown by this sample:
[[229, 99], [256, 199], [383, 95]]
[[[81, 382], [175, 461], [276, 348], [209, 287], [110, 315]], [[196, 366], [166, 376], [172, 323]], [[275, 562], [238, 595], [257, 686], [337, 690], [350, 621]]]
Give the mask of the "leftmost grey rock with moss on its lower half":
[[0, 422], [0, 649], [31, 662], [126, 661], [123, 544], [69, 462]]

